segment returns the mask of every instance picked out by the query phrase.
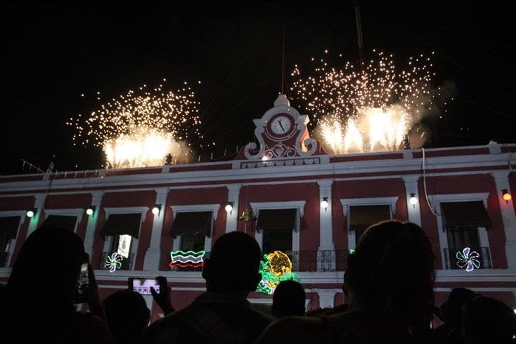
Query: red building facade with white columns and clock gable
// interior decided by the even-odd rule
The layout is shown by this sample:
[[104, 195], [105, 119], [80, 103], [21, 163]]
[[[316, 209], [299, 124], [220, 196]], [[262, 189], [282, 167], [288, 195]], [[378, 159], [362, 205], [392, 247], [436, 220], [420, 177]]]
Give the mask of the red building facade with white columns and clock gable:
[[[171, 268], [170, 253], [209, 254], [219, 236], [245, 231], [291, 258], [315, 309], [344, 302], [346, 256], [363, 230], [399, 219], [433, 243], [437, 304], [461, 286], [516, 308], [516, 144], [329, 155], [281, 96], [254, 123], [258, 144], [232, 161], [0, 177], [0, 282], [24, 239], [53, 224], [81, 236], [103, 297], [129, 277], [163, 275], [181, 309], [205, 285], [199, 269]], [[111, 272], [112, 253], [123, 259]]]

